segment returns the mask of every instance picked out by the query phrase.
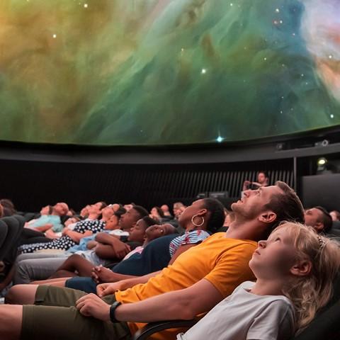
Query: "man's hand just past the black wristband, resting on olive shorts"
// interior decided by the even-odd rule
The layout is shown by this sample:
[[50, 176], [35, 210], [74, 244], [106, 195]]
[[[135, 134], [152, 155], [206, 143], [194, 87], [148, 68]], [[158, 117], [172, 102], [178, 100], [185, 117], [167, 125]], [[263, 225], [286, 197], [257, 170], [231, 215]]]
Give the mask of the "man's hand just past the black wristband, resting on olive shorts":
[[85, 317], [95, 317], [102, 321], [110, 321], [110, 305], [95, 294], [88, 294], [76, 302], [77, 310]]

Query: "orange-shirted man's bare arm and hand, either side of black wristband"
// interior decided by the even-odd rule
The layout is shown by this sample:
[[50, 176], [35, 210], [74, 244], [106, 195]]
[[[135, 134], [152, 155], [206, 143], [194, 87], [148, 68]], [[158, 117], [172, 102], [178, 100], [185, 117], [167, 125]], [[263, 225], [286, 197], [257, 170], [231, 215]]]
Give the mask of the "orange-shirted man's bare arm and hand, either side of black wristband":
[[[164, 293], [135, 303], [120, 305], [115, 318], [128, 322], [155, 322], [174, 319], [193, 319], [208, 312], [223, 299], [221, 293], [204, 278], [183, 290]], [[76, 302], [81, 314], [110, 320], [110, 305], [94, 294], [85, 295]]]

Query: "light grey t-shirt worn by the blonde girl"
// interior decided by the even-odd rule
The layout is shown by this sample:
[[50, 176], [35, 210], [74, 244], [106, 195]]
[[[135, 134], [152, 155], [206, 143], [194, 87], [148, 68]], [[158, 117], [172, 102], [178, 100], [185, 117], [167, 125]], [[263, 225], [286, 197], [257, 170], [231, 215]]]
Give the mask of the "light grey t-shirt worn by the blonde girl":
[[285, 340], [294, 335], [294, 308], [282, 295], [255, 295], [239, 285], [177, 340]]

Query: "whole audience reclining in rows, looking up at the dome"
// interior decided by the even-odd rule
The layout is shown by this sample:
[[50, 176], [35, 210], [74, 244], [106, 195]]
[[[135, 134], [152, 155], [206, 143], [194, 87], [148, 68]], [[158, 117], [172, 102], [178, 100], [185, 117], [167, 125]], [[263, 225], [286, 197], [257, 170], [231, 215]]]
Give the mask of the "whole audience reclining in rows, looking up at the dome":
[[[15, 214], [0, 200], [0, 217]], [[244, 186], [231, 210], [203, 198], [173, 215], [104, 202], [22, 215], [0, 339], [132, 339], [149, 322], [194, 318], [152, 339], [293, 339], [340, 267], [339, 212], [304, 209], [281, 181]]]

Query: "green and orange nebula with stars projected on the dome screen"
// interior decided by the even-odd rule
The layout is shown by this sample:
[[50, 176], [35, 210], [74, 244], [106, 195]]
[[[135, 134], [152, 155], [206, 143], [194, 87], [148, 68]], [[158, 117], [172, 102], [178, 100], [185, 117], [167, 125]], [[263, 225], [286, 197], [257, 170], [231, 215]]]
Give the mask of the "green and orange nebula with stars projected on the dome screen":
[[339, 0], [0, 1], [0, 140], [183, 145], [339, 124]]

